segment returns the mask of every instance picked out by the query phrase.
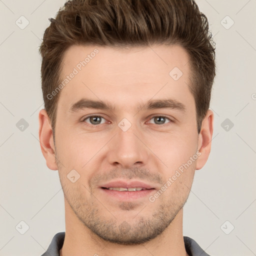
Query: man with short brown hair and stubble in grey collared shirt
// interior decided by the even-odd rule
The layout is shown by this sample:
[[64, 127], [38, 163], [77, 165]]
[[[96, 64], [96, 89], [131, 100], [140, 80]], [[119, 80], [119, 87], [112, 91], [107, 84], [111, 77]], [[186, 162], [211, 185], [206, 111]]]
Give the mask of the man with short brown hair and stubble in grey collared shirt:
[[39, 139], [65, 233], [43, 255], [208, 255], [182, 234], [213, 129], [206, 17], [193, 0], [72, 0], [50, 21]]

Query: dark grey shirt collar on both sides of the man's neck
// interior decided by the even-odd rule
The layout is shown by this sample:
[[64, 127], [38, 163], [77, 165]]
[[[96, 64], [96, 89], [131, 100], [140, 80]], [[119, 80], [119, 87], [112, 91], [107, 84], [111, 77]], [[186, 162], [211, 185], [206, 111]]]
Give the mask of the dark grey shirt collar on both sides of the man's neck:
[[[48, 249], [41, 256], [59, 256], [59, 250], [64, 242], [65, 232], [54, 235]], [[189, 256], [209, 256], [195, 240], [188, 236], [183, 236], [185, 249]]]

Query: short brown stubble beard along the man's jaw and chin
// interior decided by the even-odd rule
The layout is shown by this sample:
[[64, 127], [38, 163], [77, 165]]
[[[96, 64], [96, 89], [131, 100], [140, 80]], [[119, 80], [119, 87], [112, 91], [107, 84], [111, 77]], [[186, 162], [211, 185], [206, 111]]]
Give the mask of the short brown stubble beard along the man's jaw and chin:
[[[143, 215], [143, 207], [138, 207], [132, 202], [122, 202], [117, 206], [125, 214], [127, 211], [139, 212], [133, 219], [124, 219], [120, 214], [114, 216], [111, 209], [103, 206], [93, 195], [90, 200], [82, 197], [82, 191], [73, 187], [67, 188], [61, 182], [64, 197], [81, 223], [90, 231], [105, 241], [118, 244], [141, 244], [161, 234], [175, 218], [176, 214], [183, 207], [183, 202], [169, 200], [166, 203], [158, 204], [150, 213], [150, 216]], [[163, 198], [163, 197], [162, 197]], [[159, 198], [158, 198], [159, 199]], [[154, 202], [148, 201], [148, 207], [152, 208]], [[147, 207], [145, 207], [147, 208]], [[134, 212], [131, 212], [134, 215]]]

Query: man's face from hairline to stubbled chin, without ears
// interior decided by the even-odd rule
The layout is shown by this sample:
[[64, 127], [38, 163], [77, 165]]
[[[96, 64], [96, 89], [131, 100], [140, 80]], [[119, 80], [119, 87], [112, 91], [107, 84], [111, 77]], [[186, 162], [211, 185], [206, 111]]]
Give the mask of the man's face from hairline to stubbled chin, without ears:
[[72, 214], [105, 240], [156, 237], [188, 197], [200, 154], [188, 61], [177, 45], [64, 53], [60, 182]]

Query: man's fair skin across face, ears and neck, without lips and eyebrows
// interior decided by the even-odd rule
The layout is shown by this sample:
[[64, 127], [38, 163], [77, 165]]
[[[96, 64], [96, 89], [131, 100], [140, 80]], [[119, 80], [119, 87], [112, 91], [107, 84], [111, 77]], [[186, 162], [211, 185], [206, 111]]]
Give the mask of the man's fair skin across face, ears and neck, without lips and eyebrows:
[[[207, 161], [213, 130], [213, 112], [208, 110], [197, 133], [188, 88], [189, 56], [178, 45], [71, 46], [63, 56], [62, 76], [95, 48], [95, 57], [60, 91], [55, 141], [46, 111], [39, 113], [41, 150], [48, 168], [58, 170], [64, 192], [66, 233], [60, 255], [188, 255], [183, 205], [195, 170]], [[176, 81], [169, 75], [173, 67], [183, 73]], [[83, 97], [110, 102], [115, 109], [70, 112]], [[149, 99], [167, 97], [181, 102], [186, 111], [138, 111]], [[91, 114], [102, 117], [100, 124], [85, 119]], [[159, 124], [153, 117], [162, 115], [167, 118]], [[123, 118], [131, 123], [126, 131], [118, 126]], [[149, 196], [121, 201], [100, 188], [115, 178], [140, 180], [155, 188], [154, 195], [196, 152], [197, 159], [153, 202]], [[80, 175], [74, 183], [67, 178], [72, 169]]]

